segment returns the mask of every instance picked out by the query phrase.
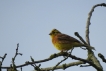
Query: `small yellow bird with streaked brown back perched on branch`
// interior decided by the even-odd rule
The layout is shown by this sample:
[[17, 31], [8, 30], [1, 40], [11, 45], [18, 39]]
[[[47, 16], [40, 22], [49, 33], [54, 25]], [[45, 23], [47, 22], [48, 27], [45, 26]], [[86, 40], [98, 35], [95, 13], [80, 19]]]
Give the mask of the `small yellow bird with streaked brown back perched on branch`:
[[[86, 47], [86, 45], [82, 44], [77, 39], [69, 35], [63, 34], [57, 29], [53, 29], [49, 35], [52, 38], [53, 45], [60, 51], [68, 51], [73, 47], [81, 47], [81, 46]], [[89, 48], [94, 49], [93, 47], [89, 47]]]

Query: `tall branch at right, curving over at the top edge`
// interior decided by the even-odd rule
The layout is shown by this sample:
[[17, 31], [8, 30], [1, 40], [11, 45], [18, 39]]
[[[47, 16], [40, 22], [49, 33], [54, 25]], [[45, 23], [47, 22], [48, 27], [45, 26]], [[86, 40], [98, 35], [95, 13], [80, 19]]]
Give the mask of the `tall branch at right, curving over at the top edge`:
[[[91, 20], [91, 16], [92, 16], [92, 13], [94, 11], [94, 9], [98, 6], [104, 6], [106, 7], [106, 4], [105, 3], [101, 3], [101, 4], [96, 4], [92, 7], [91, 11], [89, 12], [88, 14], [88, 19], [87, 19], [87, 23], [86, 23], [86, 42], [88, 45], [90, 45], [90, 39], [89, 39], [89, 26], [90, 26], [90, 20]], [[88, 51], [88, 59], [92, 60], [94, 62], [94, 64], [98, 67], [96, 68], [97, 71], [103, 71], [103, 68], [101, 66], [101, 64], [99, 63], [99, 61], [97, 60], [97, 58], [95, 57], [93, 51]]]

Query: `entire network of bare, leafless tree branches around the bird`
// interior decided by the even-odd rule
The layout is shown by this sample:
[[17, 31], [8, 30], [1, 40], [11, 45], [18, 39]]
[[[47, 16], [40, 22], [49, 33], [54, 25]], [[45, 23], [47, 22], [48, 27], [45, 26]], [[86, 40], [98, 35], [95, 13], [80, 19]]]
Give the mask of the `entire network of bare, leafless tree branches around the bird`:
[[[105, 6], [106, 7], [106, 4], [105, 3], [101, 3], [101, 4], [97, 4], [95, 6], [92, 7], [91, 11], [89, 12], [88, 14], [88, 19], [87, 19], [87, 26], [86, 26], [86, 42], [83, 40], [83, 38], [78, 34], [78, 32], [75, 32], [75, 35], [78, 36], [80, 38], [80, 40], [86, 44], [86, 45], [89, 45], [90, 46], [90, 39], [89, 39], [89, 26], [90, 26], [90, 19], [91, 19], [91, 16], [92, 16], [92, 13], [94, 11], [94, 8], [98, 7], [98, 6]], [[88, 46], [88, 47], [89, 47]], [[19, 44], [17, 44], [17, 48], [16, 48], [16, 53], [15, 53], [15, 56], [12, 58], [12, 64], [11, 66], [9, 67], [2, 67], [2, 62], [4, 61], [4, 58], [6, 57], [6, 55], [4, 57], [0, 57], [2, 58], [2, 61], [0, 62], [0, 71], [1, 69], [10, 69], [10, 70], [14, 70], [14, 71], [17, 71], [17, 68], [21, 68], [21, 71], [22, 71], [22, 67], [24, 66], [27, 66], [27, 65], [31, 65], [34, 67], [35, 70], [37, 71], [48, 71], [48, 70], [56, 70], [56, 69], [66, 69], [68, 67], [71, 67], [71, 66], [76, 66], [76, 65], [80, 65], [80, 64], [85, 64], [85, 63], [88, 63], [89, 65], [81, 65], [81, 67], [88, 67], [88, 66], [92, 66], [94, 67], [97, 71], [103, 71], [103, 68], [101, 66], [101, 64], [99, 63], [99, 61], [97, 60], [97, 58], [95, 57], [94, 53], [92, 50], [89, 50], [88, 48], [88, 58], [87, 59], [83, 59], [83, 58], [79, 58], [79, 57], [76, 57], [74, 55], [71, 55], [70, 53], [67, 53], [67, 52], [63, 52], [63, 53], [57, 53], [57, 54], [53, 54], [51, 55], [50, 57], [46, 58], [46, 59], [43, 59], [43, 60], [38, 60], [38, 61], [35, 61], [32, 57], [31, 57], [31, 62], [27, 61], [25, 62], [24, 64], [21, 64], [21, 65], [18, 65], [16, 66], [15, 65], [15, 58], [17, 55], [22, 55], [21, 53], [18, 53], [18, 47], [19, 47]], [[87, 46], [85, 46], [87, 47]], [[61, 60], [60, 62], [58, 62], [54, 67], [48, 67], [48, 68], [40, 68], [41, 64], [39, 64], [38, 66], [36, 65], [37, 63], [43, 63], [43, 62], [47, 62], [47, 61], [50, 61], [54, 58], [57, 58], [59, 56], [67, 56], [72, 58], [72, 59], [75, 59], [75, 60], [79, 60], [78, 62], [73, 62], [73, 63], [69, 63], [69, 64], [62, 64], [60, 65], [63, 61], [65, 61], [67, 58], [64, 58], [63, 60]], [[98, 56], [106, 62], [106, 59], [104, 58], [103, 55], [101, 54], [98, 54]]]

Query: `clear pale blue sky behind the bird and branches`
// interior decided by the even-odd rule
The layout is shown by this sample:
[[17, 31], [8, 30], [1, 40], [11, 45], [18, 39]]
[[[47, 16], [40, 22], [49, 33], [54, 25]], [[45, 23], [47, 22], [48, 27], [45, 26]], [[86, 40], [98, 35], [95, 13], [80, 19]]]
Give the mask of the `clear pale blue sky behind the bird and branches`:
[[[0, 56], [7, 53], [3, 66], [9, 66], [15, 54], [17, 43], [19, 52], [16, 65], [30, 61], [32, 56], [36, 61], [48, 58], [59, 51], [51, 43], [50, 31], [54, 28], [61, 32], [74, 35], [74, 32], [85, 39], [85, 27], [88, 13], [92, 6], [106, 0], [1, 0], [0, 1]], [[90, 26], [90, 42], [98, 53], [106, 56], [106, 7], [97, 7], [93, 12]], [[73, 55], [86, 58], [87, 51], [74, 49]], [[63, 57], [56, 58], [41, 67], [56, 65]], [[98, 58], [100, 61], [101, 59]], [[73, 62], [68, 59], [64, 63]], [[106, 64], [101, 61], [104, 70]], [[31, 71], [33, 67], [26, 66], [23, 71]], [[96, 71], [92, 67], [74, 66], [66, 71]], [[62, 70], [58, 70], [62, 71]]]

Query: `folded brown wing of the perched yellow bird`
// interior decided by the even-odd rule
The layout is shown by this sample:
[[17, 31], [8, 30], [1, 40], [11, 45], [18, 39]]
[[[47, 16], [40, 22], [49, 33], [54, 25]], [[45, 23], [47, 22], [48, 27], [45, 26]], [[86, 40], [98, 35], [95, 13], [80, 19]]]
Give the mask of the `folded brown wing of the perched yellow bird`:
[[75, 38], [73, 38], [69, 35], [66, 35], [66, 34], [58, 34], [57, 40], [58, 40], [59, 43], [64, 43], [64, 44], [73, 43], [73, 42], [80, 43], [77, 39], [75, 39]]

